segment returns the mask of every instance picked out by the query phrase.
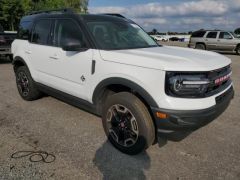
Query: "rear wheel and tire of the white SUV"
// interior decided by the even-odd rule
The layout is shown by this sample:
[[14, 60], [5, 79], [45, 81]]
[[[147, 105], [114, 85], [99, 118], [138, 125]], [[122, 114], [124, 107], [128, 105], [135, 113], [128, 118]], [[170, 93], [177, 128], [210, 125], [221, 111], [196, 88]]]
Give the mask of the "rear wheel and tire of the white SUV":
[[15, 72], [18, 92], [26, 101], [33, 101], [41, 97], [32, 76], [26, 66], [20, 66]]

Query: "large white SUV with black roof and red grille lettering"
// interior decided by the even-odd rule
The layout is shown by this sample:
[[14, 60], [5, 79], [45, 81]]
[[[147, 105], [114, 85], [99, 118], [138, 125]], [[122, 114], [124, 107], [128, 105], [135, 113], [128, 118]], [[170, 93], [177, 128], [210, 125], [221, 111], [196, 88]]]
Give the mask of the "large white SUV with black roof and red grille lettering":
[[23, 99], [44, 92], [101, 116], [109, 141], [127, 154], [202, 127], [233, 97], [230, 59], [160, 46], [124, 17], [30, 14], [12, 53]]

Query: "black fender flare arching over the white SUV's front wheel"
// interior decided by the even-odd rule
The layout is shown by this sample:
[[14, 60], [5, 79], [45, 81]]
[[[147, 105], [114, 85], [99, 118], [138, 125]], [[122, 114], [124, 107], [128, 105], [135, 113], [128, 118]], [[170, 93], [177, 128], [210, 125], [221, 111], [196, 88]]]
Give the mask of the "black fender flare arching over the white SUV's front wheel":
[[103, 95], [104, 90], [107, 86], [114, 85], [114, 84], [123, 85], [130, 88], [134, 92], [138, 93], [150, 107], [158, 107], [155, 100], [143, 87], [141, 87], [140, 85], [136, 84], [131, 80], [127, 80], [119, 77], [112, 77], [112, 78], [107, 78], [102, 80], [94, 90], [93, 98], [92, 98], [93, 103], [95, 104], [98, 97], [101, 97]]

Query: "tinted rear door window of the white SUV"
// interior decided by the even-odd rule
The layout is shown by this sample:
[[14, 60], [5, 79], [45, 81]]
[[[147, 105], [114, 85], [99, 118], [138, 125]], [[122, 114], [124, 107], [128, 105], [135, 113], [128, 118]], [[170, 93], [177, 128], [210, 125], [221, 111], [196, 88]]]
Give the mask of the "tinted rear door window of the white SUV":
[[51, 22], [52, 21], [50, 19], [41, 19], [36, 22], [32, 35], [33, 43], [42, 45], [48, 44]]

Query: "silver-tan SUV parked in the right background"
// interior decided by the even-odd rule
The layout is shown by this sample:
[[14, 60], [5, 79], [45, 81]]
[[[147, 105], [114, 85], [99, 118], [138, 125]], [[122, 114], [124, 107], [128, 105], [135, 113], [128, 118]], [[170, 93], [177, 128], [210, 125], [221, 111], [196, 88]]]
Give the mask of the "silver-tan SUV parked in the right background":
[[240, 54], [240, 38], [229, 31], [201, 30], [192, 33], [188, 47]]

